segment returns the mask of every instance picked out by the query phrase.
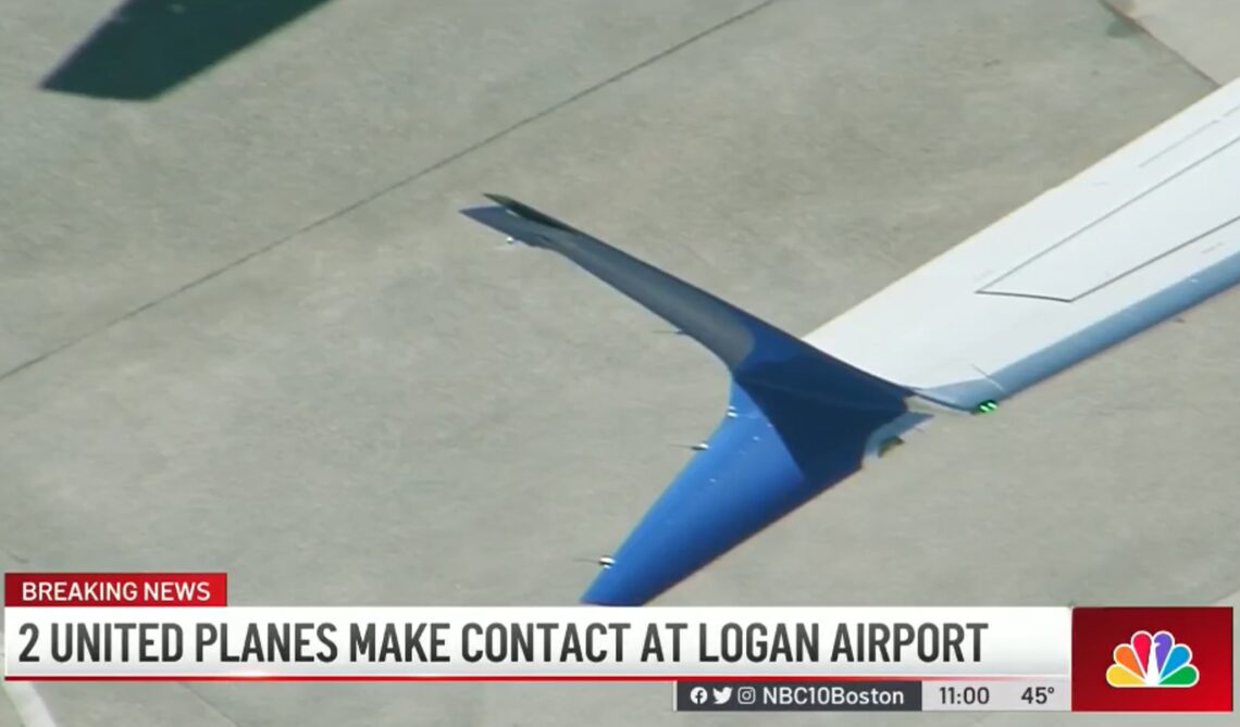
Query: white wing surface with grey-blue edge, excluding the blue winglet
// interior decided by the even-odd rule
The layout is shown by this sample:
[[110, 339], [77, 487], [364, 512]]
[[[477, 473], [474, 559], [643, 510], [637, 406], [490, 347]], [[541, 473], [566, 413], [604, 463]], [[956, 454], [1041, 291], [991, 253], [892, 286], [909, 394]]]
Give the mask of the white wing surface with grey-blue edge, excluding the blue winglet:
[[1240, 280], [1240, 81], [806, 336], [954, 407]]

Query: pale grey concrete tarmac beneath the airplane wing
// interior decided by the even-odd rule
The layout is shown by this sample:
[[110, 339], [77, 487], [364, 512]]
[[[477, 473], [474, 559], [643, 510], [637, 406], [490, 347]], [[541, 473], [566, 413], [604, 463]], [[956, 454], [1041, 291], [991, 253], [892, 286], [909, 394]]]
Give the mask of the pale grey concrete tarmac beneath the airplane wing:
[[[1091, 0], [367, 0], [157, 103], [38, 90], [100, 12], [0, 31], [0, 570], [227, 570], [239, 604], [573, 603], [722, 414], [707, 353], [479, 192], [804, 333], [1213, 88]], [[936, 422], [661, 602], [1224, 598], [1238, 316]], [[668, 690], [40, 689], [62, 726], [246, 727], [680, 722]]]

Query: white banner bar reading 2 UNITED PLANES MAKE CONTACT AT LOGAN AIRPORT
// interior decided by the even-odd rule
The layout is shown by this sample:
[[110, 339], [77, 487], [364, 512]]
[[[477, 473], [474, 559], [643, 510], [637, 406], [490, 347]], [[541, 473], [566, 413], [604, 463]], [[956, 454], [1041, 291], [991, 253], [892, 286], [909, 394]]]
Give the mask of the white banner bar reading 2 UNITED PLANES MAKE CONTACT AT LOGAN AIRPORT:
[[1068, 608], [7, 608], [20, 679], [1066, 676]]

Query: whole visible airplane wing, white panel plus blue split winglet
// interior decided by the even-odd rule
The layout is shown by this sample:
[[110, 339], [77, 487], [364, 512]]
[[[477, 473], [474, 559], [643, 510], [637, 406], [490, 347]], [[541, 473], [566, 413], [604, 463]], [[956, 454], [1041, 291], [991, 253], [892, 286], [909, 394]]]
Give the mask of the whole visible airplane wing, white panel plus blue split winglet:
[[728, 367], [728, 410], [591, 604], [649, 602], [939, 412], [996, 403], [1240, 280], [1240, 82], [799, 339], [508, 197], [463, 211], [554, 250]]

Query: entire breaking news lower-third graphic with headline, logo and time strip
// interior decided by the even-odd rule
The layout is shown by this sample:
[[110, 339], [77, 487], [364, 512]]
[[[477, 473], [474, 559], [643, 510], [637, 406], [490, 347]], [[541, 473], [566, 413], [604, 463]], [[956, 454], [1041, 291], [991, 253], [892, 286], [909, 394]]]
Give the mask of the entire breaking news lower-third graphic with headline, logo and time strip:
[[19, 681], [665, 681], [677, 711], [1233, 710], [1233, 611], [228, 606], [224, 573], [6, 573]]

